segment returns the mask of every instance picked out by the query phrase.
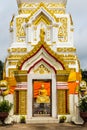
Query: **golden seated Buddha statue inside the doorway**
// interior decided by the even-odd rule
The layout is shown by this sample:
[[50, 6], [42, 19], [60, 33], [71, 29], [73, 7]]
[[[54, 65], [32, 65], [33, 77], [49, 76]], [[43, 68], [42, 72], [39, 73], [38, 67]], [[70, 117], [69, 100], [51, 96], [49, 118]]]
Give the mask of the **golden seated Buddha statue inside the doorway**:
[[47, 90], [45, 89], [43, 84], [39, 90], [36, 103], [50, 103], [50, 98], [49, 96], [47, 96]]

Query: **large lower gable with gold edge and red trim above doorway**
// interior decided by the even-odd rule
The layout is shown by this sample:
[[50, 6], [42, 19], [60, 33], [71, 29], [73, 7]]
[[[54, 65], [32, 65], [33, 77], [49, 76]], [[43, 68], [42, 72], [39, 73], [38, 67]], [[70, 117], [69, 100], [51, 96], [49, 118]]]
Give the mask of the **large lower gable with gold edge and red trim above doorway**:
[[39, 42], [32, 51], [24, 55], [18, 62], [17, 68], [19, 70], [27, 70], [28, 72], [31, 69], [36, 71], [37, 69], [34, 68], [36, 64], [38, 65], [37, 69], [43, 64], [43, 66], [49, 66], [55, 72], [66, 69], [64, 60], [51, 50], [45, 42]]

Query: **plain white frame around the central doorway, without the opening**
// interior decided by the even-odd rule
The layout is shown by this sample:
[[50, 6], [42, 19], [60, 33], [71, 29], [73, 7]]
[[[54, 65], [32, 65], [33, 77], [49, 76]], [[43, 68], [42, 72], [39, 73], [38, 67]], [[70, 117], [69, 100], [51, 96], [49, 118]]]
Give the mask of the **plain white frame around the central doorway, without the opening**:
[[27, 119], [33, 117], [33, 80], [51, 80], [52, 81], [52, 116], [57, 118], [57, 97], [56, 97], [56, 74], [28, 74], [27, 76]]

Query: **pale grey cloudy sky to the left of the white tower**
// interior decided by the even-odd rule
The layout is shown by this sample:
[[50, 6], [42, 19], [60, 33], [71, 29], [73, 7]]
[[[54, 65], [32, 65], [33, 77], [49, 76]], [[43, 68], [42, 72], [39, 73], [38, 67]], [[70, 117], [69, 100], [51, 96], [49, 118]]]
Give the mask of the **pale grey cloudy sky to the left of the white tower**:
[[7, 56], [7, 48], [10, 45], [9, 22], [16, 12], [16, 0], [0, 0], [0, 60]]

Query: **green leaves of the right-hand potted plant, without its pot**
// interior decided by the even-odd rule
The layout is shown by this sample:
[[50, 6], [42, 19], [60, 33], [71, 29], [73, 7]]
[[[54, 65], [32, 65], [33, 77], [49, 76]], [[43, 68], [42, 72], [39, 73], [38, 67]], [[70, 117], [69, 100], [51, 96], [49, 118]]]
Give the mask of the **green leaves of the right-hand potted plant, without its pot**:
[[80, 100], [79, 100], [79, 110], [81, 112], [87, 112], [87, 95], [80, 98]]

